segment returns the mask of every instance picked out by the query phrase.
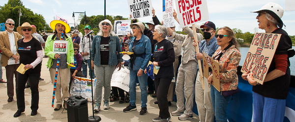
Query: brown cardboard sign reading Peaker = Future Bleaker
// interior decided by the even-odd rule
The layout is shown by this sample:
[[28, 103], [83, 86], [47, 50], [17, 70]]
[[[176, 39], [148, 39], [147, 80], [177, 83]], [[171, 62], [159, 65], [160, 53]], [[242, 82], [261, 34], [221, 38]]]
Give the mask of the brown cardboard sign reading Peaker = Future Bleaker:
[[254, 80], [263, 84], [280, 38], [281, 34], [255, 33], [241, 72], [252, 72]]

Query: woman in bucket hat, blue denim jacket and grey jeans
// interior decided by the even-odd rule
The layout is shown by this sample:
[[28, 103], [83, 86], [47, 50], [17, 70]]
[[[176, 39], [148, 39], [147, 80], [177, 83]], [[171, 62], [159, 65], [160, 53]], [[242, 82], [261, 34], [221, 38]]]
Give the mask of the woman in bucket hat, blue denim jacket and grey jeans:
[[148, 74], [143, 74], [148, 66], [151, 56], [150, 41], [147, 36], [144, 35], [145, 25], [141, 22], [130, 25], [132, 27], [133, 38], [129, 43], [129, 51], [134, 52], [131, 55], [129, 69], [130, 69], [130, 83], [129, 83], [129, 94], [130, 102], [129, 105], [123, 109], [123, 112], [130, 112], [136, 110], [136, 79], [139, 80], [141, 90], [141, 111], [140, 115], [147, 114], [147, 102], [148, 102], [148, 90], [147, 90], [147, 79]]

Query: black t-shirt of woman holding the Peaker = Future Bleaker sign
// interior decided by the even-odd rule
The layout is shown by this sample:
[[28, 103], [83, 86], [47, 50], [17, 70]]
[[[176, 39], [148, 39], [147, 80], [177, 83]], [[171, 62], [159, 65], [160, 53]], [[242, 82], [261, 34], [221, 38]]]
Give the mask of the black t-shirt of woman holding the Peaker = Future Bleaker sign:
[[[292, 41], [288, 33], [278, 28], [272, 33], [282, 34], [277, 49], [274, 54], [288, 54], [287, 50], [291, 47]], [[289, 93], [290, 86], [290, 61], [288, 58], [288, 66], [286, 74], [280, 77], [277, 77], [273, 80], [265, 82], [263, 85], [256, 85], [252, 87], [252, 91], [264, 96], [266, 98], [276, 98], [276, 99], [286, 99]], [[275, 70], [275, 62], [272, 59], [270, 66], [268, 68], [268, 73]]]

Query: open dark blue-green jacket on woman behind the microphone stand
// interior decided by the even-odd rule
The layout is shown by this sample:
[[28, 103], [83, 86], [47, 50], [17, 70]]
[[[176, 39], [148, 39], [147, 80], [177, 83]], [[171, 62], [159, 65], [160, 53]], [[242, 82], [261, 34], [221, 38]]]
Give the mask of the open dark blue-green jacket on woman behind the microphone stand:
[[[93, 64], [96, 66], [100, 66], [100, 41], [101, 36], [94, 36], [93, 41], [91, 44], [91, 60], [93, 61]], [[122, 62], [122, 54], [120, 48], [120, 41], [117, 36], [110, 36], [109, 40], [109, 50], [110, 50], [110, 56], [109, 56], [109, 66], [116, 66], [118, 62]], [[118, 55], [117, 55], [118, 52]]]

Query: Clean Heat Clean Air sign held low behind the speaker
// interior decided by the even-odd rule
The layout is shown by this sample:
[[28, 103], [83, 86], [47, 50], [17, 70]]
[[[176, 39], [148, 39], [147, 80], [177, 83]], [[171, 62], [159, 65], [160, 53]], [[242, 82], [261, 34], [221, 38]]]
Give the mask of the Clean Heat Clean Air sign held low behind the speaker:
[[[88, 103], [92, 103], [91, 95], [91, 79], [75, 77], [70, 86], [70, 96], [82, 96], [87, 98]], [[92, 79], [92, 89], [95, 91], [95, 79]], [[93, 92], [95, 93], [95, 92]]]

